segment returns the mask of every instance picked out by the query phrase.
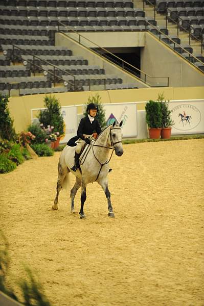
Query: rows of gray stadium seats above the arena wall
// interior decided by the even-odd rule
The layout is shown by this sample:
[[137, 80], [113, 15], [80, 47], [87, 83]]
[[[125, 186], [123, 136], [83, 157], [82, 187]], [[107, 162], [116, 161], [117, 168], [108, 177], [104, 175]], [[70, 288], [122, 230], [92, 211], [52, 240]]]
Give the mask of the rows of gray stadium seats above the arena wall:
[[[159, 13], [164, 14], [168, 10], [169, 21], [173, 19], [178, 22], [180, 29], [185, 28], [198, 38], [203, 34], [203, 1], [151, 0], [151, 3], [156, 5]], [[146, 4], [149, 3], [146, 1]], [[63, 27], [59, 22], [69, 28]], [[168, 29], [157, 25], [153, 17], [145, 16], [142, 9], [134, 8], [131, 0], [2, 0], [0, 24], [0, 47], [4, 53], [0, 57], [0, 78], [6, 78], [7, 81], [15, 78], [12, 86], [16, 88], [16, 83], [19, 82], [21, 94], [34, 94], [37, 90], [57, 90], [56, 87], [53, 89], [53, 83], [63, 83], [63, 80], [68, 85], [58, 87], [59, 91], [84, 90], [87, 86], [105, 86], [105, 89], [135, 88], [132, 84], [123, 84], [122, 79], [115, 75], [105, 74], [104, 69], [99, 66], [89, 65], [83, 57], [75, 57], [72, 50], [54, 46], [58, 25], [60, 30], [79, 32], [148, 30], [179, 54], [184, 55], [185, 50], [193, 54], [193, 48], [183, 44], [177, 36], [166, 37], [169, 34]], [[13, 44], [16, 45], [14, 52]], [[184, 56], [185, 59], [196, 63], [193, 57], [188, 53], [187, 55]], [[198, 55], [198, 60], [202, 62], [203, 57]], [[23, 61], [25, 66], [11, 65]], [[200, 62], [196, 66], [202, 70], [202, 66], [198, 64]], [[57, 67], [55, 77], [48, 73], [47, 77], [41, 77], [41, 81], [35, 79], [36, 82], [33, 82], [29, 79], [30, 81], [25, 82], [25, 77], [37, 78], [31, 77], [31, 73], [53, 72], [52, 65]], [[16, 81], [16, 78], [20, 79]], [[1, 83], [1, 90], [8, 88]]]

